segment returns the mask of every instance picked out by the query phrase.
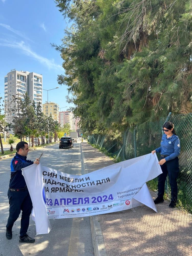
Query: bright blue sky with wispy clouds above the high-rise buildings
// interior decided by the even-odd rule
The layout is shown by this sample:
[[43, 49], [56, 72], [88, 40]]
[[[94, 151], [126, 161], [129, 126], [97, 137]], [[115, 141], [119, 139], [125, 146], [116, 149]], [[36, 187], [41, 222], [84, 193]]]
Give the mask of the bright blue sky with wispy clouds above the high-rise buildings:
[[[55, 6], [54, 0], [0, 0], [0, 96], [4, 98], [4, 76], [11, 70], [24, 70], [43, 75], [43, 88], [48, 100], [60, 108], [66, 102], [67, 86], [57, 83], [64, 74], [60, 53], [50, 43], [61, 44], [64, 29], [70, 26]], [[43, 103], [47, 91], [43, 91]], [[61, 109], [65, 111], [67, 108]]]

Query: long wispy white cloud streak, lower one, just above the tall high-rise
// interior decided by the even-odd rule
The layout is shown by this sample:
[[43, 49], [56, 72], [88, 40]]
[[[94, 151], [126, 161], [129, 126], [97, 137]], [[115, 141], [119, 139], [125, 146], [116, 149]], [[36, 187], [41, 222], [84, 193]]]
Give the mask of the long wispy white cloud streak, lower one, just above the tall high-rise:
[[38, 62], [42, 63], [44, 66], [47, 66], [48, 69], [57, 69], [57, 70], [63, 71], [63, 67], [56, 64], [54, 59], [49, 60], [43, 56], [40, 56], [36, 52], [32, 51], [30, 47], [25, 44], [24, 41], [11, 42], [8, 40], [3, 40], [3, 42], [0, 42], [0, 46], [20, 49], [22, 50], [23, 54], [36, 59]]

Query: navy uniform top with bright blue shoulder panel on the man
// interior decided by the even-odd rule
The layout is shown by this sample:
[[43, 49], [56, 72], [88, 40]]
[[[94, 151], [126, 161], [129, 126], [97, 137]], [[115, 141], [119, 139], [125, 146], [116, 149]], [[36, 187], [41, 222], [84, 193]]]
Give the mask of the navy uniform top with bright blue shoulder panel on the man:
[[31, 164], [33, 164], [33, 161], [27, 160], [26, 156], [21, 156], [17, 153], [15, 154], [11, 161], [11, 178], [9, 183], [10, 188], [24, 188], [26, 186], [26, 182], [21, 169]]

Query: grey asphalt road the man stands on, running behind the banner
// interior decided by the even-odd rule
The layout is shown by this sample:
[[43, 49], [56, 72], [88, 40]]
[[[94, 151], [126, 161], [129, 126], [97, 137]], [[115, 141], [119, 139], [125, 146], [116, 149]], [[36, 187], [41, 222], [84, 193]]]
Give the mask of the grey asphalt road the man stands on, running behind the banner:
[[[84, 173], [80, 141], [74, 143], [73, 149], [59, 149], [58, 144], [30, 151], [28, 159], [35, 159], [44, 152], [41, 164], [69, 174], [80, 175]], [[35, 237], [34, 244], [20, 244], [18, 242], [20, 218], [13, 227], [13, 238], [5, 237], [5, 226], [8, 218], [7, 190], [10, 179], [10, 161], [12, 157], [0, 160], [0, 255], [1, 256], [93, 256], [90, 218], [51, 219], [49, 234], [36, 235], [34, 221], [30, 219], [29, 235]]]

